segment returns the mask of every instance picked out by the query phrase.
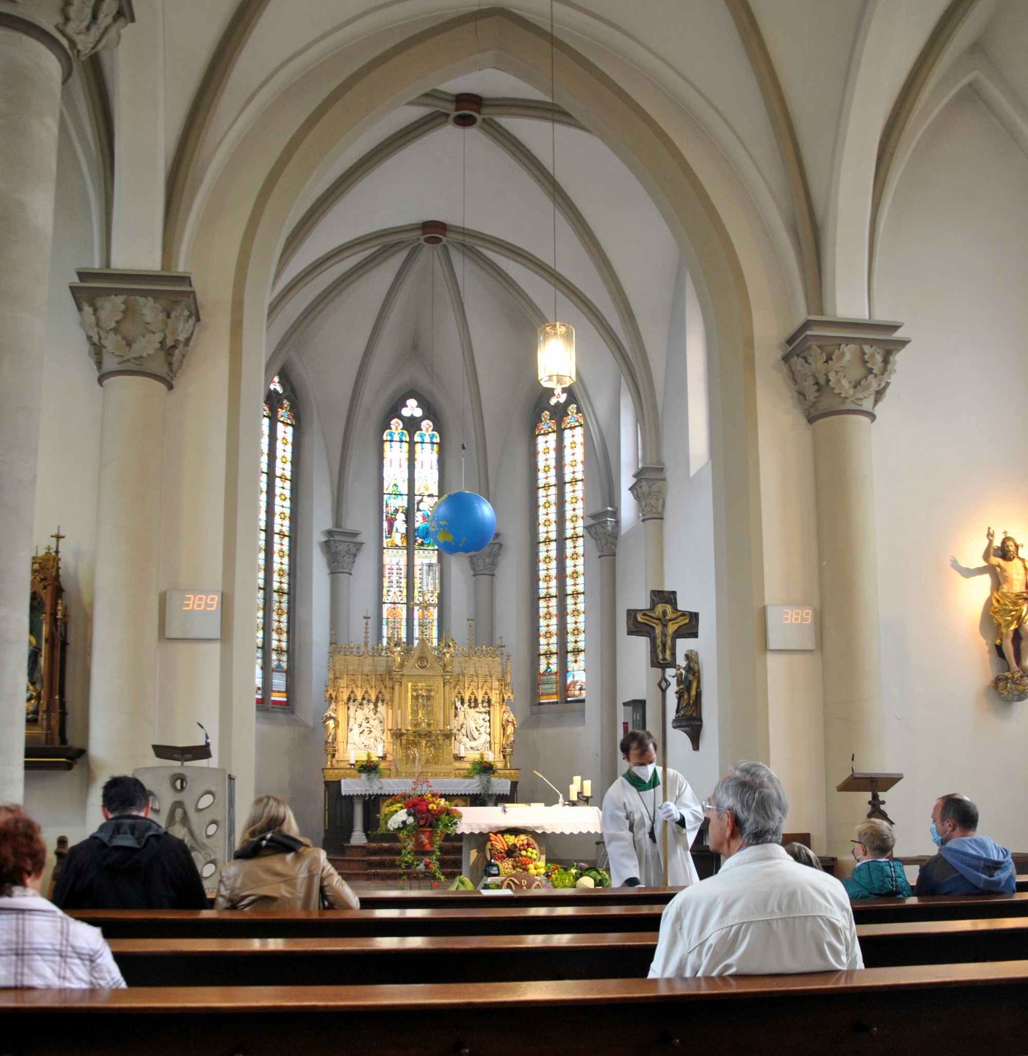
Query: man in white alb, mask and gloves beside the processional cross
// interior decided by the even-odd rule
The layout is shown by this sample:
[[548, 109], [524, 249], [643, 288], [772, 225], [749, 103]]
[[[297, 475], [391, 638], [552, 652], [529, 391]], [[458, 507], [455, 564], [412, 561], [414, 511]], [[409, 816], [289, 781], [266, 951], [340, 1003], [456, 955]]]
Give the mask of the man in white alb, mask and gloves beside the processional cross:
[[647, 730], [632, 730], [621, 741], [628, 769], [604, 796], [604, 843], [614, 887], [660, 887], [664, 883], [664, 826], [667, 882], [684, 887], [699, 881], [689, 848], [703, 824], [700, 802], [677, 771], [667, 772], [667, 802], [656, 766], [656, 741]]

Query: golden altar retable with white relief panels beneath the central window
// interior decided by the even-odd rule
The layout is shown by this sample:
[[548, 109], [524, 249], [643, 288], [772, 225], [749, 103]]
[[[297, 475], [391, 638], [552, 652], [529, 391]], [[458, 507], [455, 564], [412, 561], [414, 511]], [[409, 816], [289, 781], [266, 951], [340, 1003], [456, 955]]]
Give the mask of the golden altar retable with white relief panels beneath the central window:
[[513, 700], [502, 645], [334, 641], [322, 719], [325, 780], [359, 776], [350, 752], [360, 759], [381, 746], [383, 777], [468, 777], [472, 759], [492, 752], [496, 776], [516, 781]]

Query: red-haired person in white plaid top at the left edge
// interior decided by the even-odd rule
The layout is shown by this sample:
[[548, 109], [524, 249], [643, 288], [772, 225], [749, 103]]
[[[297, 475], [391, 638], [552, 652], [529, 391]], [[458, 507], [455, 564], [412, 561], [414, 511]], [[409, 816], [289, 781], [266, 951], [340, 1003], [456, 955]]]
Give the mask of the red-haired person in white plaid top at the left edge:
[[0, 986], [123, 986], [99, 928], [39, 893], [46, 848], [18, 807], [0, 807]]

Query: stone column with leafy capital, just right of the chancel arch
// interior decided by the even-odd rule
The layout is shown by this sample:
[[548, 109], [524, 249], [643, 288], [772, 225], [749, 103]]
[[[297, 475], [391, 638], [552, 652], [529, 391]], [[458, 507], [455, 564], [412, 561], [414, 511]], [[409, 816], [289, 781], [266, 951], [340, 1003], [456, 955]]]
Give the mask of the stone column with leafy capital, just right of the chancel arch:
[[871, 423], [909, 340], [893, 336], [901, 325], [811, 318], [783, 357], [814, 429], [827, 853], [840, 857], [865, 810], [836, 786], [854, 753], [858, 770], [884, 766]]

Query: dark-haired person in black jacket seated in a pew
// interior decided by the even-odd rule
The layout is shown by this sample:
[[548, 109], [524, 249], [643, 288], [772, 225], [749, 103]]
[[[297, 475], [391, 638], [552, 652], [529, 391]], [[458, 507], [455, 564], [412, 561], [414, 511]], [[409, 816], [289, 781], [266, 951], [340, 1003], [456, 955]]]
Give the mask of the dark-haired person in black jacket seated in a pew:
[[52, 901], [61, 909], [207, 909], [189, 848], [150, 814], [137, 777], [112, 777], [103, 824], [64, 859]]

